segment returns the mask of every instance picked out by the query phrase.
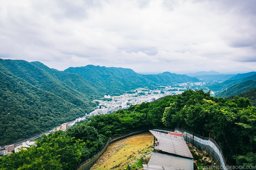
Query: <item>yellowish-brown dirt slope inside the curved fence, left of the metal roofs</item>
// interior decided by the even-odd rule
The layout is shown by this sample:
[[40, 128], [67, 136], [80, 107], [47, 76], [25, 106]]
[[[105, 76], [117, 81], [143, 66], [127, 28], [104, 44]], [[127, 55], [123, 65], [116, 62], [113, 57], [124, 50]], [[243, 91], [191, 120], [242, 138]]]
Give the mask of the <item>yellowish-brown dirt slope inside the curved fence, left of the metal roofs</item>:
[[154, 143], [154, 136], [150, 132], [127, 137], [108, 146], [108, 149], [100, 157], [100, 159], [91, 167], [91, 170], [111, 169], [116, 165], [120, 166], [116, 169], [124, 169], [127, 163], [132, 159], [138, 158], [142, 152], [148, 152]]

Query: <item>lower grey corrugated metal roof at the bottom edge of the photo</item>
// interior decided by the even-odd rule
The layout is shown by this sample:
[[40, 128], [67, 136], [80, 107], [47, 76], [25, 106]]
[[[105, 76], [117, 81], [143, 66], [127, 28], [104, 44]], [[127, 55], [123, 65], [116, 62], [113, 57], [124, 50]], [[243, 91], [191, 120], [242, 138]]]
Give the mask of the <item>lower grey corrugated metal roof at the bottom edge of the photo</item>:
[[162, 153], [153, 153], [148, 165], [157, 165], [164, 167], [172, 167], [184, 170], [193, 170], [193, 159], [166, 155]]

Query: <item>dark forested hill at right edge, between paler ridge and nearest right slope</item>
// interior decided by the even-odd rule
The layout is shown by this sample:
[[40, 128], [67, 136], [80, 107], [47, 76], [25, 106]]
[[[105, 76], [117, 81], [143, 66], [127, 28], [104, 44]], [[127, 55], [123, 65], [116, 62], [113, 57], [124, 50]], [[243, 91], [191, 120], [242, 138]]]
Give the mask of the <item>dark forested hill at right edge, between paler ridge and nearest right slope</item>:
[[237, 94], [252, 90], [254, 88], [256, 88], [256, 81], [247, 80], [243, 83], [239, 83], [239, 84], [236, 84], [236, 85], [233, 85], [233, 86], [229, 87], [227, 89], [227, 91], [225, 89], [217, 97], [225, 98], [225, 97], [228, 97], [230, 95], [237, 95]]

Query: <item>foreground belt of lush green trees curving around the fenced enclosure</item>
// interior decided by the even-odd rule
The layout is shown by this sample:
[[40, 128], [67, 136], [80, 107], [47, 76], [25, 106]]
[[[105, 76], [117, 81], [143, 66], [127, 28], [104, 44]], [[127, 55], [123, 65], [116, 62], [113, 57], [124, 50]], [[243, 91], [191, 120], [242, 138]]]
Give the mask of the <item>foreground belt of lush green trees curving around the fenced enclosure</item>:
[[[164, 127], [211, 132], [233, 165], [255, 166], [256, 109], [248, 99], [227, 100], [187, 90], [113, 114], [94, 116], [66, 132], [56, 131], [27, 150], [0, 158], [0, 169], [72, 170], [99, 151], [108, 138], [135, 129]], [[32, 168], [33, 167], [33, 168]]]

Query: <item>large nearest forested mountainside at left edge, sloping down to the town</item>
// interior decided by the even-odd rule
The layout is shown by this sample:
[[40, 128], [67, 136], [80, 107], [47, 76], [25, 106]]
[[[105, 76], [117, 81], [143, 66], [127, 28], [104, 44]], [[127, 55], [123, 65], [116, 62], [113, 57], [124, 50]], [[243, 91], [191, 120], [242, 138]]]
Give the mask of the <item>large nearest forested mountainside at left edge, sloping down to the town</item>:
[[89, 96], [81, 93], [32, 63], [0, 59], [0, 72], [0, 144], [72, 121], [96, 106], [91, 98], [97, 91], [88, 87]]

